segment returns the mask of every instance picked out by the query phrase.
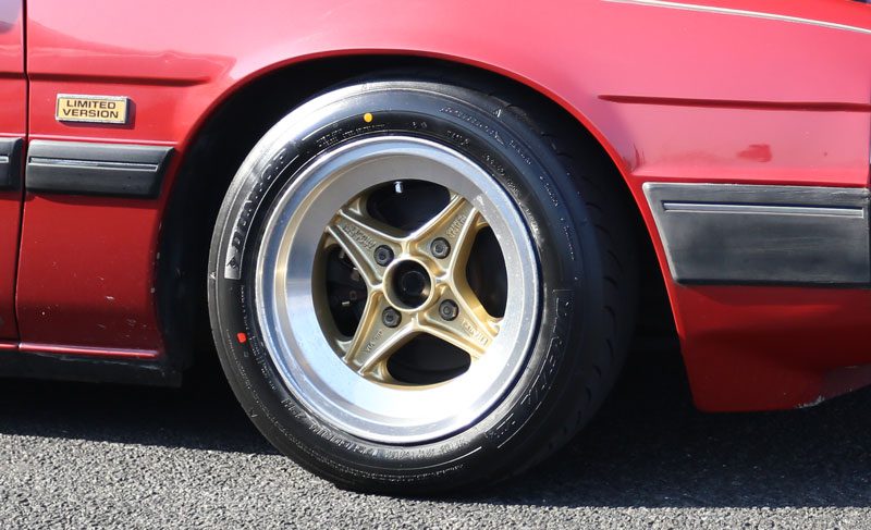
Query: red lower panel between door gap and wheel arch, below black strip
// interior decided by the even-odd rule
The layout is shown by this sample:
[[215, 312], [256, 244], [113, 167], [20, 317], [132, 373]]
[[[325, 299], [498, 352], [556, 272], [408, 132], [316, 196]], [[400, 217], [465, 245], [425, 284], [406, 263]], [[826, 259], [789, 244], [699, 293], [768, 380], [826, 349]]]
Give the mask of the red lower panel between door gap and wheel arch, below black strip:
[[[19, 273], [22, 341], [159, 349], [148, 244], [157, 239], [154, 215], [155, 206], [142, 200], [28, 194]], [[140, 230], [123, 230], [130, 226]], [[38, 252], [29, 251], [35, 247]]]

